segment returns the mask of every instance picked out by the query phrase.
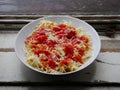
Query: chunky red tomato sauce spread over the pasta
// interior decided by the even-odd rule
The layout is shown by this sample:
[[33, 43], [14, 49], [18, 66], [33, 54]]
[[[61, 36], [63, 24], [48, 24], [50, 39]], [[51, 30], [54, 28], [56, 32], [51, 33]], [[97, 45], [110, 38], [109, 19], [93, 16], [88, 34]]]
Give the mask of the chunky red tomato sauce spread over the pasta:
[[[48, 28], [48, 27], [47, 27]], [[30, 44], [31, 48], [35, 55], [39, 57], [40, 54], [44, 54], [46, 57], [39, 57], [43, 66], [49, 66], [51, 69], [56, 68], [56, 62], [59, 61], [60, 65], [69, 64], [70, 60], [76, 62], [82, 62], [82, 56], [84, 55], [85, 48], [76, 47], [77, 44], [80, 44], [81, 41], [85, 43], [85, 46], [88, 47], [89, 40], [85, 36], [77, 36], [76, 29], [72, 26], [67, 26], [66, 24], [58, 24], [54, 26], [50, 32], [53, 33], [55, 37], [58, 38], [58, 41], [54, 39], [49, 39], [49, 36], [46, 34], [46, 27], [40, 27], [38, 30], [34, 31], [30, 36], [25, 40], [25, 44]], [[63, 43], [60, 42], [60, 39], [63, 40]], [[55, 45], [61, 45], [65, 56], [63, 60], [58, 60], [60, 58], [60, 53], [55, 53], [55, 58], [52, 57], [52, 49], [56, 49]], [[75, 48], [78, 51], [78, 54], [74, 55]]]

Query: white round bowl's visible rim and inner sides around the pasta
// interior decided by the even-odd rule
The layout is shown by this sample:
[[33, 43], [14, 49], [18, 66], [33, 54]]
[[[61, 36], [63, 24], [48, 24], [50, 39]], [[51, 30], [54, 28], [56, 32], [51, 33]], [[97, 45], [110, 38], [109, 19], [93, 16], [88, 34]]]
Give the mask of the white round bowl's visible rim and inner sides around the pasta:
[[[63, 22], [63, 21], [72, 22], [75, 27], [82, 27], [85, 32], [90, 33], [91, 34], [91, 41], [92, 41], [92, 52], [91, 52], [92, 54], [91, 54], [91, 57], [89, 58], [89, 60], [87, 60], [77, 70], [72, 71], [72, 72], [66, 72], [66, 73], [46, 73], [46, 72], [42, 72], [42, 71], [30, 66], [25, 60], [24, 40], [32, 32], [32, 30], [35, 28], [35, 26], [41, 20], [53, 21], [53, 22], [56, 22], [56, 23]], [[47, 17], [39, 18], [37, 20], [34, 20], [34, 21], [28, 23], [27, 25], [25, 25], [19, 31], [19, 33], [17, 35], [17, 38], [16, 38], [16, 42], [15, 42], [15, 52], [16, 52], [18, 58], [27, 67], [29, 67], [32, 70], [35, 70], [37, 72], [44, 73], [44, 74], [50, 74], [50, 75], [65, 75], [65, 74], [70, 74], [70, 73], [74, 73], [74, 72], [82, 70], [83, 68], [87, 67], [88, 65], [90, 65], [95, 60], [95, 58], [97, 57], [97, 55], [100, 52], [100, 47], [101, 47], [100, 38], [99, 38], [96, 30], [91, 25], [89, 25], [88, 23], [86, 23], [86, 22], [84, 22], [80, 19], [73, 18], [73, 17], [70, 17], [70, 16], [64, 16], [64, 15], [63, 16], [62, 15], [47, 16]]]

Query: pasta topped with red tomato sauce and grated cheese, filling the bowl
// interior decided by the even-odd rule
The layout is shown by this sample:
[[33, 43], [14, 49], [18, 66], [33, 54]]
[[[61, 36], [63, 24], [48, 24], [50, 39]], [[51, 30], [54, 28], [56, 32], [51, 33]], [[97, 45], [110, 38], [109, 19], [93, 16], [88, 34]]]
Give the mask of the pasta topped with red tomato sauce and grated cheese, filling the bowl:
[[70, 22], [43, 20], [24, 43], [27, 63], [47, 73], [74, 71], [91, 57], [90, 34]]

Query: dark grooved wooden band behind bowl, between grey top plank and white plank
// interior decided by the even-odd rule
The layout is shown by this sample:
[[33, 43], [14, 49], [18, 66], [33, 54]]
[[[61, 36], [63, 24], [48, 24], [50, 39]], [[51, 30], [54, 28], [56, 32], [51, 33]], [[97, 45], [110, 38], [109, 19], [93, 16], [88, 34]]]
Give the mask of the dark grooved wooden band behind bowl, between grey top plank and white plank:
[[[0, 30], [20, 30], [32, 20], [46, 15], [0, 15]], [[120, 15], [71, 15], [91, 24], [98, 32], [120, 31]], [[117, 32], [118, 33], [118, 32]]]

